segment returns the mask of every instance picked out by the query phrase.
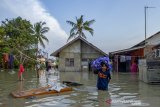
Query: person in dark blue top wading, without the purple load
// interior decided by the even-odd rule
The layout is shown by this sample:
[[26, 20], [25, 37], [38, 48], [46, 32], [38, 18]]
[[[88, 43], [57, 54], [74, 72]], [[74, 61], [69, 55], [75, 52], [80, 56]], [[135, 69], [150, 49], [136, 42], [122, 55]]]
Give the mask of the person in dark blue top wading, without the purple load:
[[97, 88], [98, 90], [108, 90], [108, 83], [111, 79], [109, 67], [106, 63], [101, 63], [102, 69], [98, 72]]

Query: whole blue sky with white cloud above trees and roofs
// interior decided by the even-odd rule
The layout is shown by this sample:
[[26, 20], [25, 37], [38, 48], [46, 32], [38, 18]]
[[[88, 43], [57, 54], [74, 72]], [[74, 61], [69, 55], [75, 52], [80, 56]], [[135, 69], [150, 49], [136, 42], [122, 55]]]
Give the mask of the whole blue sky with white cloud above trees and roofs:
[[0, 21], [18, 16], [31, 23], [45, 21], [50, 31], [44, 51], [51, 54], [66, 44], [71, 26], [84, 15], [94, 19], [94, 35], [87, 40], [108, 53], [126, 49], [145, 38], [144, 7], [147, 9], [147, 37], [160, 31], [160, 0], [1, 0]]

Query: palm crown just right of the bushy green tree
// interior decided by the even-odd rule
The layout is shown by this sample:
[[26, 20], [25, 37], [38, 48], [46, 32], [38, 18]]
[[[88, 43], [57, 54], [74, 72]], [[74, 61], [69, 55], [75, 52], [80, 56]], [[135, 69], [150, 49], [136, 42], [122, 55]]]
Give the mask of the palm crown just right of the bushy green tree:
[[45, 48], [45, 44], [43, 42], [43, 40], [45, 40], [46, 42], [49, 42], [49, 40], [47, 39], [47, 37], [44, 35], [45, 33], [47, 33], [49, 31], [48, 27], [44, 27], [46, 23], [45, 22], [37, 22], [36, 24], [34, 24], [34, 35], [36, 36], [36, 44], [37, 44], [37, 49], [38, 49], [38, 44], [40, 43], [40, 45]]

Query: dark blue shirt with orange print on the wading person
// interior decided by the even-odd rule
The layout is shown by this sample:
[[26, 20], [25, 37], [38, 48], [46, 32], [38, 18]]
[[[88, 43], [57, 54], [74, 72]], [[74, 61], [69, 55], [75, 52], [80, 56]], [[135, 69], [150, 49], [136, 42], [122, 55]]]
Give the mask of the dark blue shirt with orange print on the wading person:
[[111, 79], [111, 75], [109, 70], [105, 72], [100, 70], [98, 72], [97, 88], [100, 90], [108, 89], [108, 83], [110, 79]]

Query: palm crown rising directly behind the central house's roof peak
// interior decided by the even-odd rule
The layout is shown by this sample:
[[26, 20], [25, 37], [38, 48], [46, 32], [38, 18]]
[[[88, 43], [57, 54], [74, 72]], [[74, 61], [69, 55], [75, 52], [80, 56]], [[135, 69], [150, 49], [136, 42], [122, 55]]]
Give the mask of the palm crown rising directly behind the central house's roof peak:
[[66, 22], [72, 26], [68, 40], [73, 37], [76, 37], [77, 35], [86, 39], [86, 36], [83, 31], [88, 31], [93, 36], [94, 30], [90, 27], [90, 25], [93, 24], [95, 22], [95, 20], [90, 20], [90, 21], [84, 22], [83, 15], [81, 15], [80, 18], [76, 17], [76, 22], [72, 22], [72, 21], [66, 21]]

